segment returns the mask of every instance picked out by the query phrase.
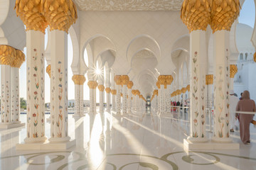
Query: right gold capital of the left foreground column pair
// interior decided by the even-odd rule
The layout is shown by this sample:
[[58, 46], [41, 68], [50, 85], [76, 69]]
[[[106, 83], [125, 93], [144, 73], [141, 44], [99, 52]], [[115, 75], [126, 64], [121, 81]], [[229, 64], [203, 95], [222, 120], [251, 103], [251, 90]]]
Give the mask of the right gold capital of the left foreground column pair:
[[68, 29], [78, 18], [72, 0], [45, 0], [43, 7], [50, 30], [63, 30], [68, 33]]

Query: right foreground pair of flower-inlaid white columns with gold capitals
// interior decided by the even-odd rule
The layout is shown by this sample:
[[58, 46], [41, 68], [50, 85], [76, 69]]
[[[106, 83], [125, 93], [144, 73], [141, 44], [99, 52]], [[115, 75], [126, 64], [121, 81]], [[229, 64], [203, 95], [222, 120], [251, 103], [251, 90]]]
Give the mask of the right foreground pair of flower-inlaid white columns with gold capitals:
[[[240, 11], [239, 1], [183, 1], [181, 20], [190, 31], [190, 115], [189, 142], [207, 142], [206, 94], [213, 91], [214, 142], [231, 142], [229, 134], [230, 44], [229, 31]], [[225, 8], [221, 6], [225, 5]], [[196, 6], [196, 12], [190, 10]], [[228, 13], [228, 14], [226, 14]], [[206, 29], [213, 30], [213, 75], [206, 70]], [[233, 76], [233, 75], [232, 75]], [[213, 81], [212, 81], [213, 80]], [[212, 87], [213, 86], [213, 87]], [[208, 93], [211, 98], [212, 93]], [[211, 105], [211, 100], [208, 100]], [[185, 143], [185, 142], [184, 142]], [[188, 144], [189, 146], [189, 144]], [[239, 147], [239, 146], [238, 146]]]

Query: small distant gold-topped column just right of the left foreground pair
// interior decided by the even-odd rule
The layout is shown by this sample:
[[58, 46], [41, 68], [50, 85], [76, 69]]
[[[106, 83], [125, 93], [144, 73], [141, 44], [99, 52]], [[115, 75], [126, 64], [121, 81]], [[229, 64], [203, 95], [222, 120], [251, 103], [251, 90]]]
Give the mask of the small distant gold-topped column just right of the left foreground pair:
[[75, 113], [73, 116], [84, 116], [83, 84], [85, 83], [85, 76], [75, 74], [72, 80], [75, 84]]

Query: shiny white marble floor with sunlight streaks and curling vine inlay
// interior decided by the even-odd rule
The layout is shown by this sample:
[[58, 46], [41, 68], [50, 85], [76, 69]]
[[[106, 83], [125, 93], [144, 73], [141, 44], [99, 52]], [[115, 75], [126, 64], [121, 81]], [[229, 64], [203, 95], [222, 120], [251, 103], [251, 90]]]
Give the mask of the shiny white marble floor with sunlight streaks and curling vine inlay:
[[[252, 125], [250, 145], [240, 142], [239, 132], [231, 135], [240, 143], [239, 150], [185, 152], [188, 122], [169, 115], [105, 112], [82, 118], [70, 114], [68, 118], [69, 135], [76, 146], [63, 151], [16, 151], [26, 128], [0, 130], [0, 169], [256, 169], [256, 128]], [[26, 115], [21, 115], [21, 121], [25, 120]], [[49, 123], [46, 136], [50, 136]]]

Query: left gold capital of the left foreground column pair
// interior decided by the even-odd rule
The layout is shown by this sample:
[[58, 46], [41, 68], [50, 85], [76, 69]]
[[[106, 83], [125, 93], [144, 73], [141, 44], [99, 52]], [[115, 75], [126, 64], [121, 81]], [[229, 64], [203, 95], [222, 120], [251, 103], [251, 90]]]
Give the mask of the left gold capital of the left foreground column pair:
[[39, 30], [45, 33], [48, 23], [43, 16], [43, 3], [44, 0], [16, 0], [14, 9], [26, 25], [26, 30]]

